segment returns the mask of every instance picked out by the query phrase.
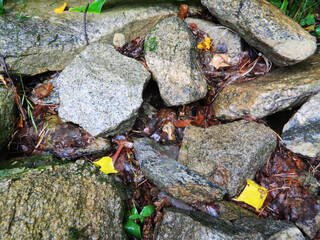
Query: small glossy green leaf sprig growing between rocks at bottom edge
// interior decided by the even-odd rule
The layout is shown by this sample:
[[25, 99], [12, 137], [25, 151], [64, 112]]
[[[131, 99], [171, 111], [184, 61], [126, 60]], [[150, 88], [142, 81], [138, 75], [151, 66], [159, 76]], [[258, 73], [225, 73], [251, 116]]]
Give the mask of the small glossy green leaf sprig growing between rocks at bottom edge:
[[154, 213], [154, 210], [154, 206], [152, 205], [145, 206], [139, 214], [137, 208], [134, 206], [131, 209], [129, 219], [124, 224], [124, 230], [134, 237], [141, 238], [141, 227], [137, 222], [140, 221], [140, 223], [143, 224], [144, 219], [150, 217], [152, 213]]

